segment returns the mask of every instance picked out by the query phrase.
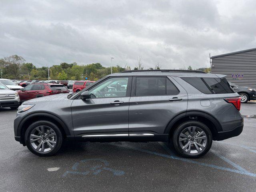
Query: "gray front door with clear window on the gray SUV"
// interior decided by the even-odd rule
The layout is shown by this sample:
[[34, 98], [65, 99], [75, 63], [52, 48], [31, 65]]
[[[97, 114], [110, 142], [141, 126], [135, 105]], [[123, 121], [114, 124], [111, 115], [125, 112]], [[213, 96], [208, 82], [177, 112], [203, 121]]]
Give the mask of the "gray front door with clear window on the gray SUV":
[[[118, 86], [118, 82], [126, 86]], [[111, 77], [90, 88], [90, 98], [72, 102], [74, 135], [128, 140], [130, 77]]]

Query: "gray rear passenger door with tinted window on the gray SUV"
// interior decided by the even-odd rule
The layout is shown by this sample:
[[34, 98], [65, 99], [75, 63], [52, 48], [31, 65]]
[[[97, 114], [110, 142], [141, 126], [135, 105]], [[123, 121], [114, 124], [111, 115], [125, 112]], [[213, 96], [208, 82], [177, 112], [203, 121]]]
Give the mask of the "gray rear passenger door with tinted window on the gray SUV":
[[186, 112], [187, 102], [186, 90], [171, 77], [134, 76], [129, 107], [129, 138], [164, 134], [170, 120]]

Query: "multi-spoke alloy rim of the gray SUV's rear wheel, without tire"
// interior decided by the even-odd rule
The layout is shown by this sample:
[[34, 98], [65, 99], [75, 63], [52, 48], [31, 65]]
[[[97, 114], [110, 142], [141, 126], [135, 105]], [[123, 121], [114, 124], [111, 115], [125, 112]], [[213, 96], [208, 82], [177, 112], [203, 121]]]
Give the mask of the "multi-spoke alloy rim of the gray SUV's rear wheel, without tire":
[[183, 151], [189, 154], [202, 152], [207, 144], [205, 132], [196, 126], [184, 128], [179, 135], [179, 144]]

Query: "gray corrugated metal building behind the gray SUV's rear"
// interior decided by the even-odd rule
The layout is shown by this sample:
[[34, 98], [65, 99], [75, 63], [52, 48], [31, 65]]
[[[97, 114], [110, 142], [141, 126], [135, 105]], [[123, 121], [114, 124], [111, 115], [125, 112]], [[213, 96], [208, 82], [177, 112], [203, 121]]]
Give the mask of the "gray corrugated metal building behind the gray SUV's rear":
[[212, 73], [240, 86], [256, 88], [256, 48], [211, 57]]

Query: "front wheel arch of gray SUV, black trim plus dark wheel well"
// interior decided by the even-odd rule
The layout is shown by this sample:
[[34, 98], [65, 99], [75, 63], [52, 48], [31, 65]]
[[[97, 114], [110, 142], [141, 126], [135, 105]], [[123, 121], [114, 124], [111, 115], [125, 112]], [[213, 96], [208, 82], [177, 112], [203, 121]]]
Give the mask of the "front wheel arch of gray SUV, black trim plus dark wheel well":
[[64, 136], [66, 138], [67, 136], [70, 136], [70, 130], [68, 129], [68, 126], [64, 123], [64, 121], [61, 120], [60, 117], [58, 117], [56, 114], [48, 113], [48, 112], [36, 112], [32, 114], [28, 114], [23, 118], [23, 120], [18, 125], [18, 133], [20, 134], [21, 143], [25, 144], [24, 141], [24, 135], [26, 132], [26, 128], [33, 122], [36, 122], [38, 120], [47, 120], [50, 121], [56, 126], [58, 126]]

